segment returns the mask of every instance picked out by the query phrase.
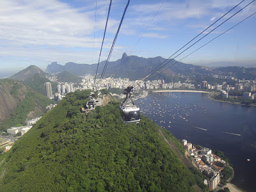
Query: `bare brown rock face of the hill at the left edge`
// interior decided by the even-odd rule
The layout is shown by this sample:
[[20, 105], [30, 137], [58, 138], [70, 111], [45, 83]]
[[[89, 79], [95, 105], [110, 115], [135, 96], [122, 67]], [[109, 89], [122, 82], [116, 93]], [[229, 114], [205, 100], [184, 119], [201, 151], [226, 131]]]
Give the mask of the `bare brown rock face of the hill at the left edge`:
[[0, 80], [0, 122], [10, 116], [20, 101], [24, 100], [28, 88], [12, 79]]

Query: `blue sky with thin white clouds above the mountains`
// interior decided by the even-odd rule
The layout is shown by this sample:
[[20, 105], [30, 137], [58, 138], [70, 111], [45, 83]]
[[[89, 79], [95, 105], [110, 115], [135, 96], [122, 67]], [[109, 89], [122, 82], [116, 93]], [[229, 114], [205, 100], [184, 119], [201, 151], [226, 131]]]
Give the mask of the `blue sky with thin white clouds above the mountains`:
[[[245, 0], [212, 28], [253, 0]], [[168, 58], [241, 0], [131, 0], [111, 61], [126, 52]], [[97, 4], [97, 8], [96, 8]], [[107, 59], [127, 1], [113, 0], [100, 61]], [[108, 15], [107, 0], [1, 0], [0, 75], [29, 65], [43, 70], [57, 61], [92, 64], [99, 60]], [[180, 60], [256, 11], [256, 1], [180, 54]], [[196, 51], [184, 63], [256, 63], [256, 15]], [[199, 38], [200, 38], [199, 37]], [[173, 57], [172, 57], [173, 58]]]

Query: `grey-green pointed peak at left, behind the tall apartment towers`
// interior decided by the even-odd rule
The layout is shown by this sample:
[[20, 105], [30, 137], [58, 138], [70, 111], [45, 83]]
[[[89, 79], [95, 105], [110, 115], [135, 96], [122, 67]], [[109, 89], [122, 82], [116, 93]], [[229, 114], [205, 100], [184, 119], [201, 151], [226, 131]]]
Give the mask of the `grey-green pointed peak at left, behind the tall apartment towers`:
[[47, 74], [40, 69], [39, 67], [36, 67], [35, 65], [30, 65], [29, 67], [25, 68], [24, 70], [21, 70], [17, 74], [10, 77], [11, 79], [17, 80], [17, 81], [24, 81], [25, 79], [28, 79], [29, 77], [35, 76], [35, 74], [40, 74], [41, 76], [46, 76]]

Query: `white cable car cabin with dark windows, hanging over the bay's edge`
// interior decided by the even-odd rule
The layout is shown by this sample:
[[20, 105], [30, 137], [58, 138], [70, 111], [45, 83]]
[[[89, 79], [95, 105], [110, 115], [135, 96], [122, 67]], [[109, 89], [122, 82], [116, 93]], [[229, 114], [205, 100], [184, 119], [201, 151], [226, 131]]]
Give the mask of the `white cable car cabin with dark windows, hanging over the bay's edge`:
[[125, 123], [136, 123], [140, 122], [140, 108], [134, 105], [120, 106], [122, 120]]

